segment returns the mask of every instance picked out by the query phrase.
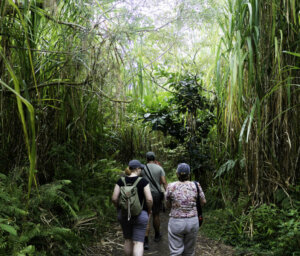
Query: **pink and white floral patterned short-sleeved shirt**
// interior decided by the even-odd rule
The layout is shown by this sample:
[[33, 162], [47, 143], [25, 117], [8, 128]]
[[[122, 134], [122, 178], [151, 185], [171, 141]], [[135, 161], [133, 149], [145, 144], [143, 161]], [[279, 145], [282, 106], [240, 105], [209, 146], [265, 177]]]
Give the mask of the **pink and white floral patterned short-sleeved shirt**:
[[[203, 190], [198, 183], [200, 197], [205, 199]], [[166, 190], [166, 200], [171, 205], [170, 216], [173, 218], [191, 218], [198, 215], [196, 207], [197, 188], [194, 182], [173, 182]]]

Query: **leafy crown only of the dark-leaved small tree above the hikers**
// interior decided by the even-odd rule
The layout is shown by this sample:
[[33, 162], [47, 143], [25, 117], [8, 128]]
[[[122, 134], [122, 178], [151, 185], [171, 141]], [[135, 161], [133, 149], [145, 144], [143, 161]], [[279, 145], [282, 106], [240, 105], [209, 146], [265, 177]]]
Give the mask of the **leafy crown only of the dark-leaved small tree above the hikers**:
[[[214, 105], [202, 96], [202, 80], [190, 74], [167, 73], [160, 71], [160, 77], [168, 79], [166, 85], [174, 89], [168, 105], [144, 112], [144, 121], [152, 123], [153, 130], [170, 134], [180, 142], [194, 136], [195, 139], [207, 138], [214, 124]], [[149, 109], [148, 109], [149, 110]], [[193, 134], [196, 133], [196, 134]]]

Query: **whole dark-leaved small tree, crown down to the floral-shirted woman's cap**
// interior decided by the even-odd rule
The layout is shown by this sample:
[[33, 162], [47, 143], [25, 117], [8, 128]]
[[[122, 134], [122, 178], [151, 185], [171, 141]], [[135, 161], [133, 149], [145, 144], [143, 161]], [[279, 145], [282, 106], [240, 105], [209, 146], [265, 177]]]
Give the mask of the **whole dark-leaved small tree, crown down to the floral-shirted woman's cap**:
[[171, 149], [184, 145], [188, 153], [184, 161], [191, 165], [195, 178], [199, 180], [204, 169], [211, 169], [208, 135], [215, 124], [214, 105], [204, 96], [206, 92], [200, 78], [165, 71], [158, 75], [167, 79], [166, 85], [173, 89], [173, 94], [168, 105], [156, 110], [143, 110], [144, 122], [151, 122], [152, 130], [171, 135]]

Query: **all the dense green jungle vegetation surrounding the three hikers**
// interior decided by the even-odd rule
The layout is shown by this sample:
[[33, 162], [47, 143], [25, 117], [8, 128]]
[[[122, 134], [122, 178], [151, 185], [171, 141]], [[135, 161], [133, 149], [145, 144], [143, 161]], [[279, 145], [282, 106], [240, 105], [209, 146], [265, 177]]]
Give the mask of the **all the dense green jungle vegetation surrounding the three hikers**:
[[206, 235], [300, 255], [299, 69], [297, 0], [1, 0], [0, 255], [79, 255], [149, 150]]

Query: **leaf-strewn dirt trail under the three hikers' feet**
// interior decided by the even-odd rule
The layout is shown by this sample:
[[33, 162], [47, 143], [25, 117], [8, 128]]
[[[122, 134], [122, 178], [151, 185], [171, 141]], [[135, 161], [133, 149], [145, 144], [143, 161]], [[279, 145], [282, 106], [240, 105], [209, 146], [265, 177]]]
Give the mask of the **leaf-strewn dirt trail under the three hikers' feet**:
[[[149, 236], [149, 250], [144, 255], [152, 256], [168, 256], [168, 214], [161, 213], [161, 232], [163, 238], [160, 242], [153, 241], [153, 228]], [[195, 256], [231, 256], [234, 250], [230, 246], [221, 242], [205, 238], [199, 232], [196, 245]], [[116, 223], [106, 234], [106, 238], [102, 239], [95, 246], [87, 249], [85, 256], [122, 256], [123, 253], [123, 235], [120, 226]]]

